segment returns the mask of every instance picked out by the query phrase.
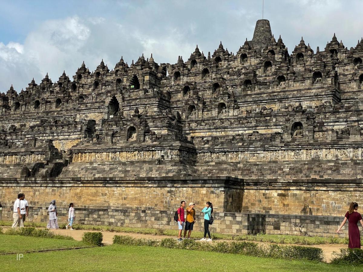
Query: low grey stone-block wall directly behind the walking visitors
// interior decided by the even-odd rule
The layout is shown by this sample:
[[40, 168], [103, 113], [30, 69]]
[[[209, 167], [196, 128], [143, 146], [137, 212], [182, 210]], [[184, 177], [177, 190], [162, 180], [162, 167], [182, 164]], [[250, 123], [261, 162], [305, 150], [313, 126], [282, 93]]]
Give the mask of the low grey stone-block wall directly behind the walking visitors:
[[[31, 205], [31, 204], [30, 204]], [[58, 223], [66, 223], [68, 219], [66, 206], [58, 206]], [[174, 221], [174, 212], [159, 209], [96, 209], [75, 204], [76, 224], [94, 224], [106, 226], [162, 228], [177, 230]], [[178, 206], [174, 205], [175, 210]], [[202, 205], [196, 206], [197, 221], [194, 230], [204, 231]], [[47, 222], [48, 207], [32, 206], [29, 210], [30, 222]], [[338, 236], [335, 234], [343, 215], [340, 217], [309, 216], [309, 215], [282, 215], [282, 214], [246, 214], [214, 212], [215, 219], [210, 226], [211, 232], [225, 234], [290, 234], [305, 236]], [[12, 220], [12, 207], [4, 205], [0, 220]], [[348, 233], [348, 222], [343, 227], [343, 234]], [[175, 232], [176, 234], [176, 232]]]

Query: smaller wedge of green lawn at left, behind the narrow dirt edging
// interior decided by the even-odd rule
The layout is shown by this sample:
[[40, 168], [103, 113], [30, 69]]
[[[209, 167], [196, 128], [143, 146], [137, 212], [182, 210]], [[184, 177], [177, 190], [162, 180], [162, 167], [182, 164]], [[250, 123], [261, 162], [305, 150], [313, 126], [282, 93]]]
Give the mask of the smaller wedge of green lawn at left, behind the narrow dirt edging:
[[[37, 238], [20, 235], [0, 235], [0, 254], [5, 252], [23, 253], [34, 250], [48, 250], [55, 248], [73, 248], [89, 246], [76, 240], [54, 238]], [[1, 262], [0, 262], [1, 263]]]

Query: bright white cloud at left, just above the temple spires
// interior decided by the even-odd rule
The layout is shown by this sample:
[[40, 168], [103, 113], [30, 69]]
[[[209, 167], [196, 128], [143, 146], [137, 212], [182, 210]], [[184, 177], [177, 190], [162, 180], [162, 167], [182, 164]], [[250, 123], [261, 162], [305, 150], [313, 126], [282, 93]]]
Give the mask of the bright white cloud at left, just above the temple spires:
[[72, 66], [74, 55], [80, 53], [89, 36], [90, 29], [78, 17], [72, 17], [45, 21], [29, 33], [24, 44], [0, 43], [0, 90], [13, 83], [19, 91], [32, 77], [39, 82], [47, 72], [53, 75], [54, 82], [61, 69]]

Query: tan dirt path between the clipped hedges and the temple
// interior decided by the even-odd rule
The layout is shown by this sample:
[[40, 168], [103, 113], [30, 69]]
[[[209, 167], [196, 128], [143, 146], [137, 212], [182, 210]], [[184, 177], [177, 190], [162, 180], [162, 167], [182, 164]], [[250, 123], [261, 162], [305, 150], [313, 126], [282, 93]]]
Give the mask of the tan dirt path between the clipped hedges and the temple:
[[[3, 227], [8, 228], [8, 227]], [[61, 234], [61, 235], [69, 235], [71, 237], [73, 237], [75, 240], [82, 240], [82, 235], [83, 232], [98, 232], [98, 231], [93, 231], [93, 230], [51, 230], [52, 232], [56, 233], [56, 234]], [[131, 236], [134, 238], [145, 238], [145, 239], [164, 239], [164, 238], [175, 238], [175, 236], [166, 236], [166, 235], [151, 235], [151, 234], [140, 234], [140, 233], [132, 233], [132, 232], [110, 232], [110, 231], [102, 231], [103, 234], [103, 244], [105, 245], [110, 245], [112, 244], [112, 240], [113, 240], [113, 236], [114, 235], [127, 235], [127, 236]], [[224, 241], [221, 239], [213, 239], [213, 241]], [[225, 240], [226, 242], [229, 242], [230, 240]], [[252, 241], [254, 242], [254, 241]], [[261, 244], [269, 244], [269, 243], [263, 243], [263, 242], [258, 242]], [[288, 244], [282, 244], [287, 246]], [[289, 244], [290, 245], [290, 244]], [[328, 263], [331, 261], [332, 259], [332, 253], [333, 251], [339, 251], [340, 248], [346, 248], [347, 245], [343, 245], [343, 244], [319, 244], [319, 245], [314, 245], [314, 246], [310, 246], [310, 247], [318, 247], [321, 248], [323, 250], [324, 256], [325, 256], [325, 261], [327, 261]]]

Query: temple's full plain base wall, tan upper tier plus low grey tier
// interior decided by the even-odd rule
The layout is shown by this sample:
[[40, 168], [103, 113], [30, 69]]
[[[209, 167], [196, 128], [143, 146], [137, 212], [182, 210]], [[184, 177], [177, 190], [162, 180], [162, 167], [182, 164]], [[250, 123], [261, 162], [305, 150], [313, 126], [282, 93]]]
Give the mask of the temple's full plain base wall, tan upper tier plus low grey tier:
[[200, 211], [206, 201], [211, 201], [215, 208], [213, 232], [333, 236], [349, 202], [363, 202], [359, 190], [349, 187], [260, 187], [257, 183], [251, 186], [251, 181], [227, 177], [178, 181], [155, 178], [129, 184], [112, 179], [49, 179], [47, 184], [34, 178], [12, 183], [3, 180], [0, 199], [4, 209], [0, 219], [11, 220], [15, 192], [23, 192], [30, 205], [29, 221], [46, 222], [49, 202], [56, 199], [60, 222], [66, 222], [68, 204], [73, 202], [76, 221], [81, 224], [176, 229], [173, 215], [180, 200], [185, 200], [187, 204], [196, 203], [195, 229], [203, 230]]

